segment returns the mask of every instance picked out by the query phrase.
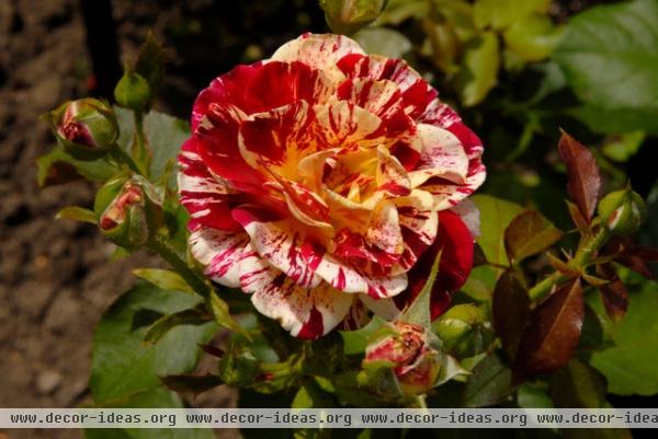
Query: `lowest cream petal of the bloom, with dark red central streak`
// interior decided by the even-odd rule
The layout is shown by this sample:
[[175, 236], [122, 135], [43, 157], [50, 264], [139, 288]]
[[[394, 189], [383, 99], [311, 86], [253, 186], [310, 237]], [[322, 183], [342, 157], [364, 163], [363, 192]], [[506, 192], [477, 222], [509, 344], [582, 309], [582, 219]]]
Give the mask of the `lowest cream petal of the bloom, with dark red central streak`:
[[263, 315], [279, 321], [292, 335], [315, 339], [336, 327], [348, 314], [352, 296], [322, 282], [303, 288], [283, 273], [272, 273], [251, 296]]

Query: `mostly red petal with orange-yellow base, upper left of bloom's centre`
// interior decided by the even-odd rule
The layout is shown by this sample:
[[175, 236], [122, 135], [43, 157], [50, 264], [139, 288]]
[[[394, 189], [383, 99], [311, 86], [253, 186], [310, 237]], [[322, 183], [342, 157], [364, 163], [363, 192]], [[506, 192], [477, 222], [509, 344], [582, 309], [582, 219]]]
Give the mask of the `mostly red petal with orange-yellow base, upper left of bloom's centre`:
[[314, 120], [306, 101], [254, 114], [240, 126], [239, 152], [263, 174], [292, 180], [299, 160], [315, 152]]

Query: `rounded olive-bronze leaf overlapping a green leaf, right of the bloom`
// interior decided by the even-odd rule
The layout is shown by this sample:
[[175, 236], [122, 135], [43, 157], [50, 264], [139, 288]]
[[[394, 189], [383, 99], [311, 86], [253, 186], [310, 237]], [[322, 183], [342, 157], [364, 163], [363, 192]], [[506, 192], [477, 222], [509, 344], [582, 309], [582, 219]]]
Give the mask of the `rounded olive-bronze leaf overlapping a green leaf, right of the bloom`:
[[504, 247], [510, 261], [521, 261], [555, 244], [563, 236], [551, 221], [535, 210], [526, 210], [504, 230]]

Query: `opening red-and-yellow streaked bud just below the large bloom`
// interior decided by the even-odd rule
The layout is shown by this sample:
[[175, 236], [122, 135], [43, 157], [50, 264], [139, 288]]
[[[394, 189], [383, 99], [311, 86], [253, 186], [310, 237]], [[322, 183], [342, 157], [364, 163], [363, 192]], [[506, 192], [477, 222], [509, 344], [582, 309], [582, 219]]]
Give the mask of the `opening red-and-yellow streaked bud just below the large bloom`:
[[365, 349], [364, 365], [392, 362], [402, 394], [418, 395], [429, 391], [441, 371], [440, 353], [430, 346], [422, 326], [394, 322], [396, 334], [376, 340]]

